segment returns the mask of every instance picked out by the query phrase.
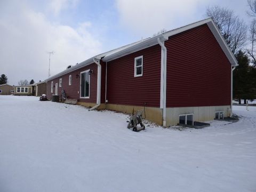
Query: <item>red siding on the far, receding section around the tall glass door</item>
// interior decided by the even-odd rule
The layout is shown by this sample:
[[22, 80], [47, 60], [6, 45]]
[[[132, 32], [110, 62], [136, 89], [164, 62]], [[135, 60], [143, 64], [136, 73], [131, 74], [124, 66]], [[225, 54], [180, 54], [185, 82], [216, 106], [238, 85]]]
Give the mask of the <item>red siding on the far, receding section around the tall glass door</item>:
[[[88, 70], [92, 69], [93, 73], [90, 76], [90, 98], [89, 99], [80, 99], [80, 77], [76, 78], [76, 75]], [[72, 84], [68, 85], [69, 75], [72, 76]], [[62, 87], [59, 87], [59, 79], [62, 78]], [[51, 93], [51, 82], [53, 81], [53, 93]], [[61, 90], [63, 89], [69, 99], [78, 99], [78, 101], [84, 102], [93, 102], [95, 103], [97, 100], [97, 65], [92, 63], [88, 66], [85, 66], [81, 69], [77, 69], [75, 71], [71, 71], [66, 75], [62, 75], [58, 78], [54, 78], [51, 81], [47, 82], [47, 98], [51, 99], [52, 94], [55, 94], [55, 83], [58, 83], [58, 94], [61, 94]]]

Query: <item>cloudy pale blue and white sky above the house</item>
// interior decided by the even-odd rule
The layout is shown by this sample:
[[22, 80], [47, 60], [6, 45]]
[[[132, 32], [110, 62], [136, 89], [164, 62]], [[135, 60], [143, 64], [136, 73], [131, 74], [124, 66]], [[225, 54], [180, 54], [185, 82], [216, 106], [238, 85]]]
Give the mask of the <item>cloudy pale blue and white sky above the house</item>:
[[243, 18], [246, 0], [1, 0], [0, 75], [35, 82], [94, 55], [205, 18], [207, 6]]

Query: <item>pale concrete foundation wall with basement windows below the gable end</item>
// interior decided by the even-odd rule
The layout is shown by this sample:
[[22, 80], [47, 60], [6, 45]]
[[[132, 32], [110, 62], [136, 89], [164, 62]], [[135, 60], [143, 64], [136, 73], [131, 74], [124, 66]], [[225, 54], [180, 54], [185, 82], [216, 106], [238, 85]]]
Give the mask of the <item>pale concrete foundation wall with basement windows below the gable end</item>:
[[224, 116], [227, 117], [230, 115], [230, 106], [166, 108], [166, 126], [177, 125], [181, 114], [194, 114], [194, 121], [211, 121], [215, 118], [215, 111], [224, 111]]

